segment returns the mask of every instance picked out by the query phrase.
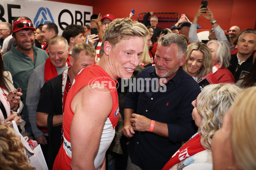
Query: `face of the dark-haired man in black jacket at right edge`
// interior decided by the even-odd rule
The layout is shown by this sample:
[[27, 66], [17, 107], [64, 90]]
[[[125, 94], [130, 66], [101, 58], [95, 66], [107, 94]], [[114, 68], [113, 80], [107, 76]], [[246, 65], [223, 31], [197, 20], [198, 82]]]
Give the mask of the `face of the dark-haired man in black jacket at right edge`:
[[237, 50], [239, 54], [244, 55], [251, 54], [256, 50], [256, 34], [242, 34], [237, 41]]

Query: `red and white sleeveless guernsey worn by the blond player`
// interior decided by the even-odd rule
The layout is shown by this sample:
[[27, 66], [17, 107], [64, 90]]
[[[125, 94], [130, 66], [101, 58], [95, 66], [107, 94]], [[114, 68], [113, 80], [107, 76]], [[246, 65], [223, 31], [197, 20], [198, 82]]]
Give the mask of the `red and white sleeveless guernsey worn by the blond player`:
[[[71, 170], [72, 148], [70, 143], [70, 127], [74, 116], [74, 113], [71, 110], [71, 103], [76, 93], [82, 87], [93, 84], [93, 81], [91, 81], [93, 79], [97, 79], [100, 84], [105, 85], [109, 89], [113, 101], [111, 113], [108, 115], [108, 118], [103, 127], [99, 150], [96, 158], [94, 159], [94, 166], [96, 170], [98, 170], [101, 166], [105, 157], [105, 153], [108, 150], [108, 147], [110, 146], [115, 136], [115, 127], [119, 119], [119, 105], [116, 92], [116, 81], [113, 81], [113, 79], [98, 65], [91, 65], [87, 68], [82, 69], [80, 73], [75, 77], [73, 85], [67, 94], [63, 114], [64, 142], [61, 145], [58, 155], [56, 156], [56, 159], [54, 161], [53, 170]], [[110, 79], [112, 81], [109, 81]], [[106, 81], [110, 83], [105, 83]]]

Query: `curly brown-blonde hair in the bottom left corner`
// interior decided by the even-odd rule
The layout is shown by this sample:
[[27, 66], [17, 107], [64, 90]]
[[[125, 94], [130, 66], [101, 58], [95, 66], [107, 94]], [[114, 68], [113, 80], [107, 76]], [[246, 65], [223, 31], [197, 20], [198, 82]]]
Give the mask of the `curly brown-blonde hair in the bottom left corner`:
[[0, 166], [3, 170], [35, 170], [24, 155], [24, 147], [8, 125], [0, 125]]

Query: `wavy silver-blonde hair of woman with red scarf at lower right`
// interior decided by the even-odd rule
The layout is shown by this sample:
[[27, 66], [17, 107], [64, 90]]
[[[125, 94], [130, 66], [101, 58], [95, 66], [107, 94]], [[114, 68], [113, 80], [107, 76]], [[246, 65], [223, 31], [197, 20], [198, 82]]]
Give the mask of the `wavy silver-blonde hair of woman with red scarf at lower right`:
[[197, 109], [202, 116], [198, 130], [201, 131], [201, 144], [211, 149], [212, 136], [222, 126], [222, 118], [233, 104], [241, 88], [233, 84], [212, 84], [204, 87], [198, 99]]

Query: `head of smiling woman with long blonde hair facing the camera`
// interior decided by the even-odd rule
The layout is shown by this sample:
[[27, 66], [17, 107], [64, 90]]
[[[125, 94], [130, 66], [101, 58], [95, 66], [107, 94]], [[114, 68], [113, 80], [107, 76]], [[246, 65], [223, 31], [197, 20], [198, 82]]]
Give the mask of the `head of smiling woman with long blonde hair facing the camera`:
[[203, 42], [190, 44], [186, 51], [186, 60], [183, 70], [198, 81], [212, 72], [212, 54], [210, 49]]

